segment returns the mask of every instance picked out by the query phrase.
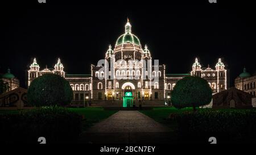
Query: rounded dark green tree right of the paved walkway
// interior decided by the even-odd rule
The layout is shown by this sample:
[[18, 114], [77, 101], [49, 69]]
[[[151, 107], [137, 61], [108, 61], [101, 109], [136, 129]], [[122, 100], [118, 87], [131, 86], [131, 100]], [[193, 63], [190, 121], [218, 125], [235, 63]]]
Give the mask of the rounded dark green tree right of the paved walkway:
[[212, 100], [212, 89], [208, 82], [200, 77], [184, 77], [177, 81], [172, 91], [172, 104], [176, 108], [204, 106]]

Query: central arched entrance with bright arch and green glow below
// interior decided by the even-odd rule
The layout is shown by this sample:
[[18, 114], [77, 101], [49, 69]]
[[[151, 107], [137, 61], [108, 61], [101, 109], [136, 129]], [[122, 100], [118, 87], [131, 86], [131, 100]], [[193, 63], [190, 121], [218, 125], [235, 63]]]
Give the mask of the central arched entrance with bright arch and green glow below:
[[134, 100], [135, 86], [131, 82], [123, 83], [123, 107], [132, 107]]

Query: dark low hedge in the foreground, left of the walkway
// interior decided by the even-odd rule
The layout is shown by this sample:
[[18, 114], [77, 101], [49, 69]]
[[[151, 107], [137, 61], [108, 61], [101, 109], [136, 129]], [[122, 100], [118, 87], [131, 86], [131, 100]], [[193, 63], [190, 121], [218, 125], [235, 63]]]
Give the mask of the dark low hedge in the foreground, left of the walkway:
[[1, 143], [75, 143], [81, 116], [64, 108], [39, 108], [20, 114], [0, 114]]

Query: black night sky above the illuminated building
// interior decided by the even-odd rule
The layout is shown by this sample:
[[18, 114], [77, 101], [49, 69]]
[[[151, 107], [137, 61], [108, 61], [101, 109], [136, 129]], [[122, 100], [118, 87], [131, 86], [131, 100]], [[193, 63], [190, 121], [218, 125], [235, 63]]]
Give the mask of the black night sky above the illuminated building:
[[25, 87], [26, 72], [36, 57], [40, 69], [53, 68], [60, 57], [68, 74], [90, 74], [90, 64], [114, 47], [130, 18], [132, 32], [147, 44], [167, 73], [188, 73], [195, 57], [214, 69], [222, 58], [230, 85], [246, 67], [255, 73], [253, 5], [163, 4], [87, 5], [80, 3], [6, 4], [1, 6], [0, 73], [11, 69]]

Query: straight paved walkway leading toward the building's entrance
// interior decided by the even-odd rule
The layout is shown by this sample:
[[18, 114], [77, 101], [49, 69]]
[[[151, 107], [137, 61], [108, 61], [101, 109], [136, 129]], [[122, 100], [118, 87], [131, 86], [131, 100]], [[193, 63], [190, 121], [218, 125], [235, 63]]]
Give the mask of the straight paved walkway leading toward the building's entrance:
[[82, 143], [165, 143], [171, 129], [139, 111], [118, 111], [82, 133]]

